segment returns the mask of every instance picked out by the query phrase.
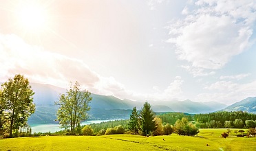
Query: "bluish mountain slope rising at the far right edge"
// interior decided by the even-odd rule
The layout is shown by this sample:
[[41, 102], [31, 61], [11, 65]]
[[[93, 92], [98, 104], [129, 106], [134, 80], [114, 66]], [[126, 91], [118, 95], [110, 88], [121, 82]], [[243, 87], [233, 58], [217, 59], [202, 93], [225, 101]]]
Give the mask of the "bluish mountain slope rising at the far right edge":
[[246, 99], [224, 108], [223, 111], [246, 111], [256, 113], [256, 97], [247, 97]]

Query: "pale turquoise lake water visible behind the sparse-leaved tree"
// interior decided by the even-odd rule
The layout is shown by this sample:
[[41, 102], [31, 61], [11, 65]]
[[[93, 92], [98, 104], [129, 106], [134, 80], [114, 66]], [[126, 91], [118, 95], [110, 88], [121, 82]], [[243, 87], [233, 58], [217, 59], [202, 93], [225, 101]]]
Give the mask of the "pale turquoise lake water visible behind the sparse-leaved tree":
[[[87, 125], [87, 124], [99, 124], [103, 121], [112, 121], [112, 120], [93, 120], [93, 121], [83, 121], [81, 123], [81, 126]], [[56, 132], [59, 130], [64, 130], [64, 128], [60, 128], [59, 124], [39, 124], [39, 125], [34, 125], [31, 126], [32, 128], [32, 133], [34, 132]]]

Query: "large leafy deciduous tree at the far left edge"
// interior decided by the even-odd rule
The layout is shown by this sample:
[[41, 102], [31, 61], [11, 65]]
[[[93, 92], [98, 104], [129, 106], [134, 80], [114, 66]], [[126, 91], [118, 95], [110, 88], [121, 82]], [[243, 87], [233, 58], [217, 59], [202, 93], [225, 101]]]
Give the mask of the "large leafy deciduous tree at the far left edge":
[[1, 106], [3, 108], [3, 126], [10, 132], [18, 130], [28, 121], [28, 117], [35, 111], [33, 103], [34, 91], [31, 89], [28, 78], [17, 74], [1, 84]]

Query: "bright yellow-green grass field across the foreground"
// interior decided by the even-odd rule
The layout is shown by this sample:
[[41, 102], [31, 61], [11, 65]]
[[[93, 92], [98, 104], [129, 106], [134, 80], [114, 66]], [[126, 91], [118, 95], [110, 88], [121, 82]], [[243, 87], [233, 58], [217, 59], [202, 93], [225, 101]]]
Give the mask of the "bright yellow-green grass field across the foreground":
[[[103, 135], [0, 139], [0, 150], [256, 150], [256, 138], [220, 137], [226, 129], [200, 129], [197, 137]], [[164, 139], [164, 140], [163, 140]], [[209, 146], [206, 146], [208, 144]]]

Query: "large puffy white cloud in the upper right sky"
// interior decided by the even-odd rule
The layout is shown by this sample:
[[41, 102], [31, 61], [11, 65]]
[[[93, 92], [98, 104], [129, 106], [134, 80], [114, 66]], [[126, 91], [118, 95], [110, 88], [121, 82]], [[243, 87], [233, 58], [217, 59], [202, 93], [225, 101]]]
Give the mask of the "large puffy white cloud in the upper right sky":
[[[181, 60], [193, 67], [220, 69], [251, 44], [256, 3], [251, 1], [195, 1], [195, 9], [170, 25]], [[184, 8], [186, 10], [186, 8]]]

